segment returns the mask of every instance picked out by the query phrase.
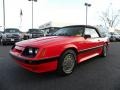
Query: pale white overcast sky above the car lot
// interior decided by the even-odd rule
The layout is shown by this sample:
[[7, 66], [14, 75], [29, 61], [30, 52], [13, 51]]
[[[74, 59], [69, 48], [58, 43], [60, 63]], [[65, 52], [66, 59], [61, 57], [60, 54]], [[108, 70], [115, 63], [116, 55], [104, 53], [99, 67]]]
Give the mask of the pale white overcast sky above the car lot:
[[[0, 26], [3, 25], [3, 0], [0, 0]], [[120, 0], [38, 0], [34, 2], [34, 28], [47, 22], [60, 22], [65, 25], [85, 24], [86, 7], [88, 8], [88, 24], [102, 24], [101, 12], [110, 6], [114, 10], [120, 9]], [[112, 5], [111, 5], [112, 3]], [[32, 27], [32, 2], [28, 0], [5, 0], [6, 28], [19, 28], [27, 31]], [[23, 15], [20, 16], [20, 9]], [[22, 18], [22, 22], [21, 22]], [[2, 29], [2, 27], [0, 27]]]

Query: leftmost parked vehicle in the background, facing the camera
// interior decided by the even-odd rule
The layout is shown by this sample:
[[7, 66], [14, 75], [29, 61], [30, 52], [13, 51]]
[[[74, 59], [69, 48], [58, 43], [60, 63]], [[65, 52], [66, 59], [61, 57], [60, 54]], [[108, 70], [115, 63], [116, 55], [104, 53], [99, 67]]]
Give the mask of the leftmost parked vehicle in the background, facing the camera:
[[6, 28], [2, 35], [2, 44], [6, 45], [9, 43], [14, 44], [22, 40], [21, 32], [17, 28]]

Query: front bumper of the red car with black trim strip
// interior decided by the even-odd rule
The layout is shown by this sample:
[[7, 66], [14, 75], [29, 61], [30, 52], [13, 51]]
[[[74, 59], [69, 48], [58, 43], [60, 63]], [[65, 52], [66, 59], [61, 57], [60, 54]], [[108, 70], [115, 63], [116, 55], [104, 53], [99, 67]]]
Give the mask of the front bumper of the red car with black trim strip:
[[12, 51], [10, 51], [10, 55], [21, 67], [32, 72], [42, 73], [55, 71], [57, 69], [57, 57], [41, 60], [28, 60], [22, 56], [19, 57], [19, 55], [15, 54]]

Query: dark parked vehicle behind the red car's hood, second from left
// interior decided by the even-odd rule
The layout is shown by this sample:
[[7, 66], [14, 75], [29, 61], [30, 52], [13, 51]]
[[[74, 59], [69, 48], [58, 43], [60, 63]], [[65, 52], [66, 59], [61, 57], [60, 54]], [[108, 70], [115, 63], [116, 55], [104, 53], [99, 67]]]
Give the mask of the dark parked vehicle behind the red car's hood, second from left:
[[39, 38], [44, 36], [43, 32], [39, 29], [29, 29], [28, 32], [24, 35], [24, 39]]

